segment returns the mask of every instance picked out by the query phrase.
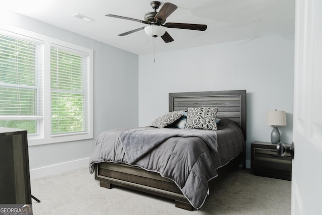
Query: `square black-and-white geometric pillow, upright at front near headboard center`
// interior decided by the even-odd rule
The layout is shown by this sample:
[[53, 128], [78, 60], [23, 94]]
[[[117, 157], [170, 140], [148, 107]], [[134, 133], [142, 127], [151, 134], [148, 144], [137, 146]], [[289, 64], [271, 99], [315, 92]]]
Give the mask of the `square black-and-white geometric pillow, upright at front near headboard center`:
[[217, 130], [215, 121], [217, 111], [217, 107], [188, 108], [187, 124], [185, 128]]

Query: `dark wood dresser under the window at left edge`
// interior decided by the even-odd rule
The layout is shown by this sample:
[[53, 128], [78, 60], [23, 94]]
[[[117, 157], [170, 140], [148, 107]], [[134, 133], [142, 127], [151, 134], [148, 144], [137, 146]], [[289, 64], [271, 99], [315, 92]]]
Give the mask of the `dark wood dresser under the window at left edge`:
[[0, 127], [0, 204], [31, 204], [26, 130]]

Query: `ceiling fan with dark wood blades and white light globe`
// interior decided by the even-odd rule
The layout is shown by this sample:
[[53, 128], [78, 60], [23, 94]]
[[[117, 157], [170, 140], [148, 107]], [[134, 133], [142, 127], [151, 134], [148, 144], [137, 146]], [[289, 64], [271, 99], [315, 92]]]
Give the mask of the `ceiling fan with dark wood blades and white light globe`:
[[166, 43], [174, 41], [174, 39], [170, 36], [170, 34], [166, 31], [166, 28], [181, 28], [181, 29], [188, 29], [188, 30], [197, 30], [197, 31], [204, 31], [207, 29], [207, 25], [199, 25], [199, 24], [189, 24], [189, 23], [165, 23], [166, 19], [178, 8], [176, 5], [171, 3], [164, 3], [162, 8], [159, 12], [156, 12], [156, 9], [159, 8], [161, 5], [160, 2], [153, 1], [150, 3], [152, 8], [154, 9], [153, 12], [148, 12], [144, 16], [143, 20], [128, 18], [117, 16], [113, 14], [105, 15], [107, 17], [114, 17], [119, 19], [131, 20], [135, 22], [140, 22], [143, 24], [147, 24], [148, 26], [137, 28], [118, 36], [125, 36], [140, 30], [145, 31], [145, 33], [152, 37], [160, 36]]

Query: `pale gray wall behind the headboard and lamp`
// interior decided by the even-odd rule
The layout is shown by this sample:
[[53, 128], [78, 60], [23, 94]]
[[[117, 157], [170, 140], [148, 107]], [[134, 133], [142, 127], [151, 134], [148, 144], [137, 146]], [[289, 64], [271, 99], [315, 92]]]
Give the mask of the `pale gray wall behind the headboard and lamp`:
[[139, 56], [139, 125], [169, 111], [173, 92], [247, 90], [247, 160], [252, 141], [270, 141], [268, 110], [285, 110], [292, 141], [294, 35], [272, 35]]

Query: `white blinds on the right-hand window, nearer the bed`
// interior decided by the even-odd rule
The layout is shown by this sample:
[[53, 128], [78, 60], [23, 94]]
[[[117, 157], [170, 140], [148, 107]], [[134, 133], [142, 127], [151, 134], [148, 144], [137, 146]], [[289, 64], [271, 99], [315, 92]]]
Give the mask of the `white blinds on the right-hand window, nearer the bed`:
[[51, 135], [89, 132], [89, 54], [51, 45]]

